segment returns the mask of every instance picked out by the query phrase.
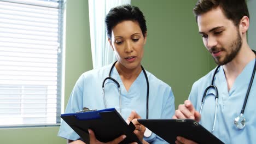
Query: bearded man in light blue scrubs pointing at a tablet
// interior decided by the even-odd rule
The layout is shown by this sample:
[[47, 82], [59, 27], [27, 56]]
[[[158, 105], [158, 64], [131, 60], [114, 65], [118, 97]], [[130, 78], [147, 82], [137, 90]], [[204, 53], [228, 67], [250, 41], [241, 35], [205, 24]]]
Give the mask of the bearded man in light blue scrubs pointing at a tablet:
[[[213, 81], [213, 85], [218, 88], [219, 99], [212, 133], [224, 143], [255, 143], [255, 77], [248, 100], [245, 101], [255, 64], [255, 53], [247, 43], [249, 13], [246, 1], [200, 0], [193, 11], [203, 44], [220, 65]], [[189, 100], [179, 105], [173, 118], [193, 118], [212, 131], [216, 103], [214, 88], [206, 92], [201, 114], [199, 111], [203, 93], [211, 85], [215, 70], [194, 83]], [[243, 104], [246, 104], [243, 112], [246, 125], [244, 128], [236, 127], [234, 121], [241, 115]], [[178, 136], [176, 143], [196, 142]]]

